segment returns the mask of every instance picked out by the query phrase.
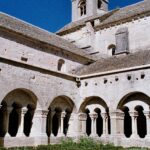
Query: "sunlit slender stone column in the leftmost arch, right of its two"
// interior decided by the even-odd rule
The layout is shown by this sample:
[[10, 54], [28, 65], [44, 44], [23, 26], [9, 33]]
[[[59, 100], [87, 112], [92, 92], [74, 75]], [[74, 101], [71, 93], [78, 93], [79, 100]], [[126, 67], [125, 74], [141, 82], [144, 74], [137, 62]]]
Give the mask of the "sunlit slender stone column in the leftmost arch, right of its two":
[[27, 112], [27, 108], [22, 108], [22, 110], [21, 110], [21, 120], [20, 120], [20, 125], [19, 125], [19, 130], [18, 130], [17, 137], [25, 136], [25, 134], [24, 134], [24, 116], [25, 116], [26, 112]]

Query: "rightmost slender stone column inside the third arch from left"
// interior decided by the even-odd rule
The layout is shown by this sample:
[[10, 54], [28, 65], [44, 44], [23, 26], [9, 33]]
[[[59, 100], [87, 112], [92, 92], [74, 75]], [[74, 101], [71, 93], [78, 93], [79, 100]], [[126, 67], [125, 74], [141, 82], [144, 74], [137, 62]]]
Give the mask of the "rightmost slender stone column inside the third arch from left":
[[103, 118], [103, 134], [102, 136], [108, 136], [108, 116], [107, 113], [102, 113], [102, 118]]

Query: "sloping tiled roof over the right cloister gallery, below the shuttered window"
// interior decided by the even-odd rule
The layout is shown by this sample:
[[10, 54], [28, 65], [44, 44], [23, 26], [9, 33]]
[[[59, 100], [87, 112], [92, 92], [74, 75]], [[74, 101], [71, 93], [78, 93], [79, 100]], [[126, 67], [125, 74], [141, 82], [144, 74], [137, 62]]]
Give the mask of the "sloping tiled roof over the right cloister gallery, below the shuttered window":
[[92, 73], [126, 69], [148, 64], [150, 64], [150, 50], [145, 50], [125, 56], [118, 55], [106, 59], [100, 59], [89, 66], [80, 68], [79, 70], [77, 70], [76, 74], [87, 75]]

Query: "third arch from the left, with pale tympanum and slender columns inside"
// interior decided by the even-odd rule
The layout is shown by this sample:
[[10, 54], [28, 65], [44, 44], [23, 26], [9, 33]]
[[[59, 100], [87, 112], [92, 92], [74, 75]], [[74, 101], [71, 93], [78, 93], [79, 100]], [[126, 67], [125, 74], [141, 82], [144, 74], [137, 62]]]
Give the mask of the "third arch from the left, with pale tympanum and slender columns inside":
[[79, 109], [83, 135], [100, 137], [110, 134], [110, 116], [107, 104], [99, 97], [88, 97]]

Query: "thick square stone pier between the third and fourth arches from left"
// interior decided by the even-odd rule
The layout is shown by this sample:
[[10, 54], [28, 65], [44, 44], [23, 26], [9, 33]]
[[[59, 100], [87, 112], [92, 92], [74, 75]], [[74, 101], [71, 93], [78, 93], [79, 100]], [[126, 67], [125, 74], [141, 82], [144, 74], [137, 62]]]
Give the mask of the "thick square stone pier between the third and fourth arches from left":
[[124, 113], [121, 110], [110, 112], [111, 136], [124, 137]]

